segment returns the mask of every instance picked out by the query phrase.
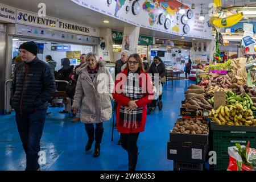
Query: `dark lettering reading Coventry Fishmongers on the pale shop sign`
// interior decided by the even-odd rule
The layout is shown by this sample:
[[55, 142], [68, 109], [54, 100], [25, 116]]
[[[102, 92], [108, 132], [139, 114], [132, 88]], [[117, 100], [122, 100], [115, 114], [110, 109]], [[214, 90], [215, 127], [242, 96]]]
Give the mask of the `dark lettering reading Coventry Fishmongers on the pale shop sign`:
[[80, 31], [89, 33], [90, 29], [88, 27], [83, 27], [71, 23], [65, 23], [61, 20], [52, 20], [47, 18], [41, 18], [38, 16], [30, 15], [27, 13], [19, 13], [18, 20], [23, 20], [24, 22], [36, 23], [38, 25], [44, 25], [49, 27], [59, 27], [61, 29], [73, 30], [73, 31]]

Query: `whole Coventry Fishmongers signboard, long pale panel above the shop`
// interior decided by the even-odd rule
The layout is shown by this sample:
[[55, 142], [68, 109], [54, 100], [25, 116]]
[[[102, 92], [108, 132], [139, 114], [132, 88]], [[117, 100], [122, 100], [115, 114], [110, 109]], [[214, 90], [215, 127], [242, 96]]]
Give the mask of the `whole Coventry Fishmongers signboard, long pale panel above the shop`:
[[30, 26], [51, 28], [54, 30], [73, 32], [82, 35], [100, 36], [98, 28], [82, 26], [80, 24], [67, 22], [65, 20], [51, 18], [49, 16], [40, 17], [34, 13], [17, 10], [17, 23], [28, 24]]

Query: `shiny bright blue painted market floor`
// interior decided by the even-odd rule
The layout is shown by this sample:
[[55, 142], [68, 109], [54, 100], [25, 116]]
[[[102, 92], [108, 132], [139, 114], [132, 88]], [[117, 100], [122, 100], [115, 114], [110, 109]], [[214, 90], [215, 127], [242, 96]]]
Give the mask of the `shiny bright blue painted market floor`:
[[[167, 160], [167, 141], [169, 131], [179, 117], [181, 100], [192, 81], [171, 82], [163, 87], [163, 110], [156, 108], [147, 117], [146, 128], [139, 135], [139, 157], [137, 170], [170, 171], [172, 160]], [[119, 146], [119, 134], [114, 130], [114, 141], [111, 141], [112, 119], [104, 122], [105, 132], [101, 144], [101, 155], [93, 158], [93, 150], [84, 151], [87, 142], [84, 125], [72, 123], [68, 114], [60, 114], [60, 107], [49, 108], [41, 140], [41, 150], [46, 152], [46, 164], [42, 170], [114, 170], [126, 171], [128, 156]], [[94, 145], [93, 145], [94, 146]], [[0, 115], [0, 170], [23, 171], [26, 167], [26, 156], [20, 142], [15, 123], [15, 113]]]

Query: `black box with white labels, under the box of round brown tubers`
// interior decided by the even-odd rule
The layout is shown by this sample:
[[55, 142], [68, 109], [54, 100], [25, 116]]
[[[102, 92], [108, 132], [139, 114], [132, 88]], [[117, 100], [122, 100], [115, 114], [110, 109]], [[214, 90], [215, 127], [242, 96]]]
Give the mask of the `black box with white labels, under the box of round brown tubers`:
[[167, 159], [181, 162], [204, 163], [207, 159], [208, 144], [167, 143]]

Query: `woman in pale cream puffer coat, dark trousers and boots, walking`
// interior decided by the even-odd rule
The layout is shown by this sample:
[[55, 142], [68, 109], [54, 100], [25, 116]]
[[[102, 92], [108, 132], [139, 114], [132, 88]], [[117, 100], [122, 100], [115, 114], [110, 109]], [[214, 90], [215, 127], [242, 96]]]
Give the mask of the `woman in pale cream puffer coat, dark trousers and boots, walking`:
[[[76, 93], [73, 102], [73, 113], [81, 106], [81, 122], [85, 123], [88, 142], [85, 151], [89, 151], [95, 139], [94, 157], [100, 155], [100, 144], [104, 132], [103, 122], [112, 117], [112, 90], [114, 82], [98, 56], [90, 52], [85, 57], [87, 65], [81, 69], [77, 80]], [[104, 92], [102, 92], [102, 89]], [[106, 92], [107, 91], [107, 92]], [[94, 130], [94, 125], [96, 129]]]

